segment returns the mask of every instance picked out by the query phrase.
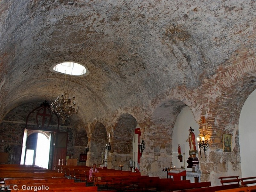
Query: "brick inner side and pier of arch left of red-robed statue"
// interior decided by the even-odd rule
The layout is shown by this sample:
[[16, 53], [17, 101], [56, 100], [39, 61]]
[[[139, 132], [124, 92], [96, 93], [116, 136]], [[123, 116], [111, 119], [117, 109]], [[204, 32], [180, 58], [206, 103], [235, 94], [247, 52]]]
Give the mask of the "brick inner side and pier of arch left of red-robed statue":
[[[166, 177], [162, 166], [170, 166], [172, 161], [172, 133], [173, 127], [181, 110], [187, 105], [177, 99], [164, 100], [152, 112], [145, 133], [145, 152], [140, 159], [142, 174]], [[161, 130], [161, 132], [159, 131]], [[155, 161], [157, 156], [157, 161]]]

